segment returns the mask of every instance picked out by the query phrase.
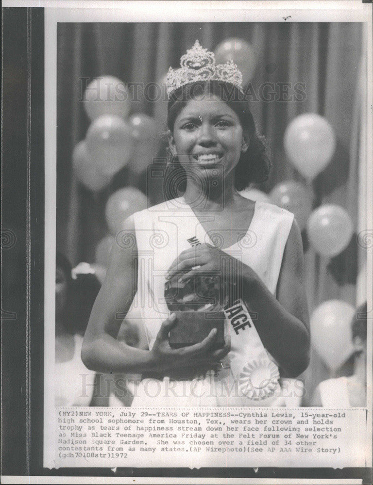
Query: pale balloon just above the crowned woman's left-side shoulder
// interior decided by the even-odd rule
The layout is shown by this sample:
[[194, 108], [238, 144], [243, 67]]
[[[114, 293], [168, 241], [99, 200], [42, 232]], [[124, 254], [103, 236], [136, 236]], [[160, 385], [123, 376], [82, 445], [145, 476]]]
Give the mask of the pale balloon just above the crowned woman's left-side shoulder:
[[110, 195], [105, 209], [106, 222], [110, 232], [116, 235], [122, 229], [127, 217], [147, 207], [146, 196], [135, 187], [125, 187]]

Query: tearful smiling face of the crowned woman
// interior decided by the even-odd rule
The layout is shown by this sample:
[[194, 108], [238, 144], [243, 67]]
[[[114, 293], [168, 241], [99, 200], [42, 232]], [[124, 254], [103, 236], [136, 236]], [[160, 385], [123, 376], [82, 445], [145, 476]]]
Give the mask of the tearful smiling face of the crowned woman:
[[203, 173], [223, 165], [225, 177], [247, 150], [248, 138], [237, 114], [216, 95], [188, 101], [169, 132], [171, 152], [184, 168]]

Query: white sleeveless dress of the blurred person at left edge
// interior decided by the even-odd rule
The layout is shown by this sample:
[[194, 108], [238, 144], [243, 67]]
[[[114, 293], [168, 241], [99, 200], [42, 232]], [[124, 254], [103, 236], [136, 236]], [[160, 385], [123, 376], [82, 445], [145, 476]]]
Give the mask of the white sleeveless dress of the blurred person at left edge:
[[89, 406], [95, 380], [80, 356], [83, 337], [74, 335], [74, 355], [67, 362], [56, 362], [54, 367], [54, 405]]

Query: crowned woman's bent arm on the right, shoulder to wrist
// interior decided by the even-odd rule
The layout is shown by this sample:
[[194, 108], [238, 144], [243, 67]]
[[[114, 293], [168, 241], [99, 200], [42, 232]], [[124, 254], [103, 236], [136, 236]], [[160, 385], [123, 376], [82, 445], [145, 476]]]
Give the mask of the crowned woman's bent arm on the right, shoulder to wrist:
[[288, 377], [309, 363], [309, 317], [304, 288], [303, 247], [294, 219], [277, 283], [277, 299], [251, 268], [243, 268], [244, 301], [263, 345]]

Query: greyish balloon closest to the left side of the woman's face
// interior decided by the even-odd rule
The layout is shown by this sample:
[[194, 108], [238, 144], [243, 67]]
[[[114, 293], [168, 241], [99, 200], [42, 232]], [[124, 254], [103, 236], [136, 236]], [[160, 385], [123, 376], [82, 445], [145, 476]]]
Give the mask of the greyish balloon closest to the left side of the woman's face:
[[139, 174], [146, 170], [157, 156], [159, 133], [155, 119], [147, 114], [134, 114], [129, 121], [134, 146], [130, 166]]

